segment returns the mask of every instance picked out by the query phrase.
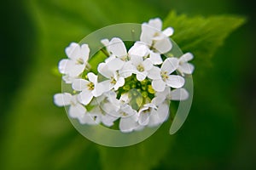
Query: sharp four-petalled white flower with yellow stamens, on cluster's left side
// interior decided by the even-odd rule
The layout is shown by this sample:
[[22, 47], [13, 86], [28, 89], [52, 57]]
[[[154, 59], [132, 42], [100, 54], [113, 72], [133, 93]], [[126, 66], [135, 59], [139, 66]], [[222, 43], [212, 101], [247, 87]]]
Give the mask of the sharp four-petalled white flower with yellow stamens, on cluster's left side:
[[87, 77], [89, 81], [76, 79], [72, 84], [74, 90], [82, 91], [78, 95], [78, 99], [84, 105], [88, 105], [93, 97], [98, 97], [103, 93], [102, 84], [97, 82], [97, 76], [94, 73], [89, 72]]

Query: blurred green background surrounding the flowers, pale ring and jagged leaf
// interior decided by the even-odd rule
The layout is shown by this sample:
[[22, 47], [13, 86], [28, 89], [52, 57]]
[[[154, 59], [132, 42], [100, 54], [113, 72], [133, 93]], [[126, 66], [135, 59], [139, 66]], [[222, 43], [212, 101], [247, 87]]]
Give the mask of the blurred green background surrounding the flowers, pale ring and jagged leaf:
[[[256, 169], [254, 8], [250, 0], [2, 1], [0, 169]], [[103, 26], [165, 19], [170, 10], [236, 14], [247, 22], [225, 39], [211, 65], [201, 70], [195, 56], [195, 99], [176, 134], [166, 123], [125, 148], [84, 139], [53, 104], [61, 92], [54, 68], [64, 48]]]

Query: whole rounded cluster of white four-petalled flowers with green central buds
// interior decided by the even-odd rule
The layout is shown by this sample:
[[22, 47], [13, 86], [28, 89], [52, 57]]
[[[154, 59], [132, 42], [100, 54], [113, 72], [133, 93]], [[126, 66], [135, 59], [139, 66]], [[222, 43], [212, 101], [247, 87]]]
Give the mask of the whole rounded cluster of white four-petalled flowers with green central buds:
[[118, 124], [123, 133], [165, 122], [171, 100], [189, 98], [184, 77], [192, 74], [194, 65], [188, 63], [193, 59], [190, 53], [164, 55], [172, 49], [173, 29], [161, 29], [158, 18], [143, 23], [140, 41], [130, 49], [119, 37], [102, 39], [108, 57], [99, 65], [89, 64], [88, 44], [72, 42], [59, 71], [73, 93], [55, 94], [55, 105], [69, 106], [69, 116], [81, 124]]

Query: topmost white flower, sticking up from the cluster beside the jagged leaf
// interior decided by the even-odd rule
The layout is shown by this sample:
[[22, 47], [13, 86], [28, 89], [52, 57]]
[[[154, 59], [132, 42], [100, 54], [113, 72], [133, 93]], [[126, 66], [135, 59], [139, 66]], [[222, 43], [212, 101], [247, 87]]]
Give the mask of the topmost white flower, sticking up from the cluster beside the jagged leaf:
[[172, 49], [172, 42], [169, 37], [173, 34], [172, 27], [161, 31], [162, 21], [159, 18], [149, 20], [148, 23], [143, 23], [141, 42], [145, 42], [155, 52], [165, 54]]

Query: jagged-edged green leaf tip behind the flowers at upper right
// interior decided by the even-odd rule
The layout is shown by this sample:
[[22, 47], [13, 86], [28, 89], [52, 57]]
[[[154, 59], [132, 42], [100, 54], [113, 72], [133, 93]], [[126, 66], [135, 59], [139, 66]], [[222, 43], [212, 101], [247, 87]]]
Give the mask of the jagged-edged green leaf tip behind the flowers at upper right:
[[[171, 12], [164, 22], [164, 27], [172, 26], [172, 39], [177, 42], [183, 53], [195, 55], [196, 68], [205, 69], [218, 47], [223, 45], [232, 31], [245, 23], [245, 18], [233, 15], [216, 15], [211, 17], [188, 17]], [[203, 72], [203, 71], [201, 71]]]

